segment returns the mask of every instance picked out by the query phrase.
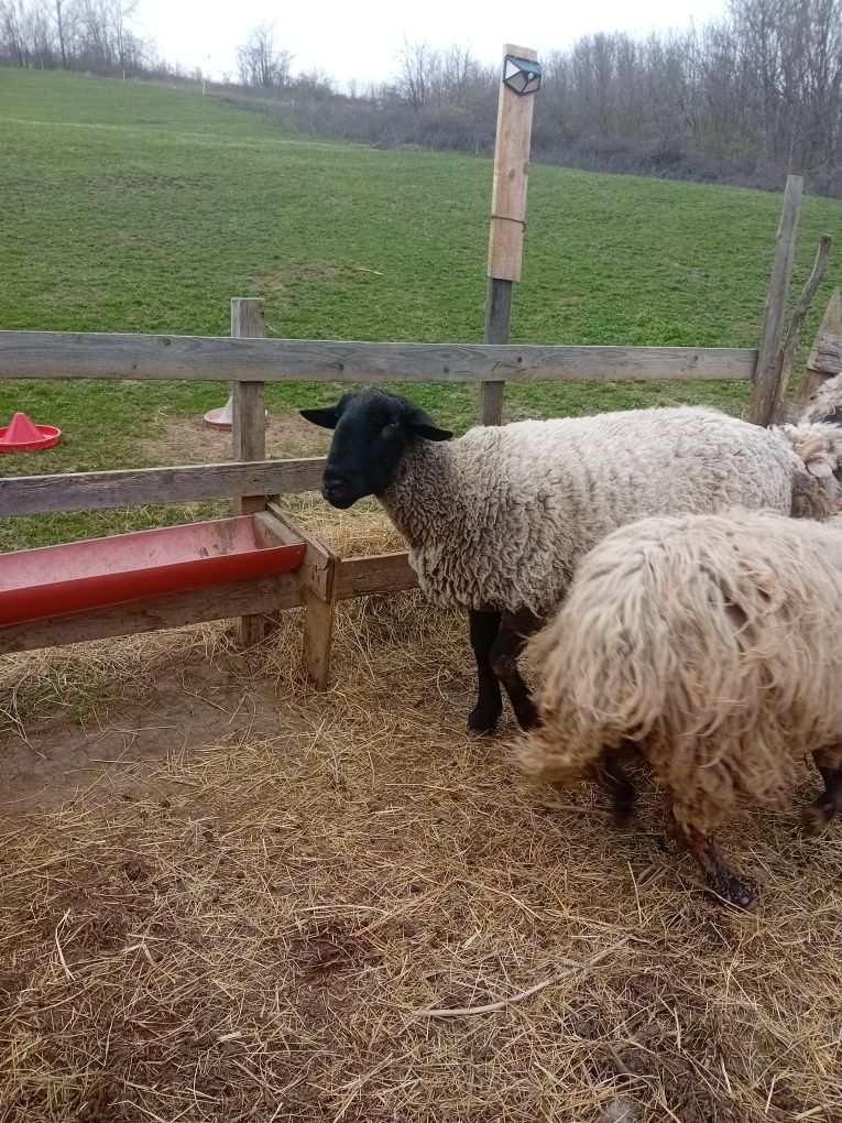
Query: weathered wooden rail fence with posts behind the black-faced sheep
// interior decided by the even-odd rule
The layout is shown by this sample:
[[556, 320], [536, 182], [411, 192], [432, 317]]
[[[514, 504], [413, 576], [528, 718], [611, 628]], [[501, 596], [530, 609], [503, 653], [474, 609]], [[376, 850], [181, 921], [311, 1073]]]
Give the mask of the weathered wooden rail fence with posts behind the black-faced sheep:
[[[240, 618], [244, 642], [264, 634], [265, 614], [305, 609], [304, 663], [313, 682], [328, 682], [337, 601], [411, 588], [415, 577], [404, 551], [339, 558], [295, 527], [275, 496], [314, 491], [324, 459], [266, 460], [267, 382], [468, 382], [494, 390], [538, 381], [725, 380], [753, 383], [752, 420], [767, 422], [786, 386], [797, 334], [821, 276], [817, 258], [794, 325], [784, 338], [782, 318], [791, 273], [794, 197], [787, 184], [778, 252], [759, 348], [571, 347], [513, 344], [370, 344], [340, 340], [266, 339], [263, 301], [231, 302], [231, 337], [116, 335], [63, 331], [0, 331], [0, 378], [201, 380], [231, 383], [234, 457], [223, 464], [62, 473], [0, 478], [0, 517], [101, 511], [134, 504], [182, 503], [232, 497], [251, 514], [263, 545], [303, 541], [304, 564], [295, 575], [185, 591], [132, 604], [0, 627], [0, 652], [75, 642], [104, 636], [176, 627], [199, 620]], [[797, 198], [796, 198], [797, 203]], [[797, 207], [796, 207], [797, 211]], [[826, 241], [826, 245], [825, 245]], [[830, 248], [823, 239], [820, 257]], [[798, 322], [798, 317], [800, 321]], [[825, 312], [800, 390], [807, 394], [842, 371], [842, 298]]]

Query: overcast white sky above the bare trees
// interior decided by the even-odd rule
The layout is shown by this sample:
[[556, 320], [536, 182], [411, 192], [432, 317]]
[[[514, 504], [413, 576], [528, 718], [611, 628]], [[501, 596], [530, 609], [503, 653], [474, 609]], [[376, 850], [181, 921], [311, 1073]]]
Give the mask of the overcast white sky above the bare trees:
[[721, 16], [725, 0], [139, 0], [135, 24], [153, 38], [168, 63], [209, 77], [236, 76], [236, 48], [249, 28], [275, 20], [276, 42], [293, 57], [293, 72], [321, 69], [344, 85], [357, 79], [388, 81], [404, 35], [445, 48], [467, 46], [483, 63], [496, 65], [503, 45], [534, 47], [541, 54], [569, 46], [594, 31], [646, 34], [683, 28]]

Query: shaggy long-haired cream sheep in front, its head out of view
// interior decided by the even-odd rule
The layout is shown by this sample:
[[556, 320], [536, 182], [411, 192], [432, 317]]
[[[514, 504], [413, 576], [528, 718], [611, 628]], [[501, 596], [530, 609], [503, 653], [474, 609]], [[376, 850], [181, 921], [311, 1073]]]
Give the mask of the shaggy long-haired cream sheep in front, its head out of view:
[[513, 759], [560, 784], [607, 775], [615, 791], [633, 742], [671, 833], [719, 896], [750, 909], [757, 891], [714, 832], [779, 803], [807, 752], [825, 791], [804, 809], [805, 833], [842, 810], [841, 637], [839, 523], [752, 511], [641, 520], [583, 560], [532, 641], [541, 724]]

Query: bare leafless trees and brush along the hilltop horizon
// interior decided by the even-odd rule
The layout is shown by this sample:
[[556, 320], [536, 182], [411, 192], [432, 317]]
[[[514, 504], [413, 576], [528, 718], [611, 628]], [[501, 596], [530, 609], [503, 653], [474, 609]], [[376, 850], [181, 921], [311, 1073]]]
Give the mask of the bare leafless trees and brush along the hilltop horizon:
[[[0, 63], [184, 76], [132, 29], [137, 0], [0, 0]], [[405, 42], [388, 82], [339, 92], [301, 73], [274, 24], [237, 47], [229, 92], [300, 129], [379, 146], [487, 153], [498, 67]], [[533, 154], [591, 168], [842, 195], [842, 0], [730, 0], [702, 28], [585, 36], [542, 51]], [[196, 76], [198, 72], [196, 72]], [[238, 81], [237, 81], [238, 80]], [[235, 89], [236, 88], [236, 89]]]

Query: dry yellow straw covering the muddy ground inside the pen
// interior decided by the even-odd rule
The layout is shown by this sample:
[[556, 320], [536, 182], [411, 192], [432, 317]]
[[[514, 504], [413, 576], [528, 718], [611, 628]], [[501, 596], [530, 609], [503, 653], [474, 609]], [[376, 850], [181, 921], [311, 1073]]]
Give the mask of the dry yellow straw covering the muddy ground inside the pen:
[[763, 883], [723, 911], [651, 792], [620, 831], [466, 733], [460, 618], [342, 605], [327, 695], [300, 629], [0, 660], [4, 759], [89, 758], [8, 802], [2, 1123], [842, 1120], [839, 828], [723, 837]]

